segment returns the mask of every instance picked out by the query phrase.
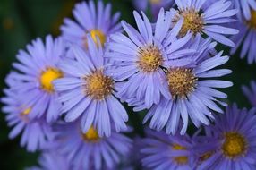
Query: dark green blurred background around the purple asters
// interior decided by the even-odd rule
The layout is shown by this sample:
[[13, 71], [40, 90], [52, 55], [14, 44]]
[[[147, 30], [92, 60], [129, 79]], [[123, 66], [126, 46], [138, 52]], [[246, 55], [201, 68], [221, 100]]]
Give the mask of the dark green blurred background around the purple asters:
[[[138, 0], [139, 1], [139, 0]], [[12, 69], [12, 62], [18, 50], [34, 38], [60, 34], [59, 26], [64, 17], [72, 16], [73, 5], [77, 0], [1, 0], [0, 1], [0, 96], [5, 87], [4, 78]], [[113, 13], [120, 11], [122, 19], [134, 23], [132, 17], [132, 0], [105, 0], [113, 4]], [[218, 50], [228, 48], [218, 47]], [[231, 56], [226, 68], [233, 70], [232, 75], [226, 76], [227, 81], [233, 81], [234, 87], [226, 89], [228, 103], [250, 107], [243, 96], [241, 86], [256, 80], [256, 65], [248, 65], [239, 55]], [[1, 106], [1, 104], [0, 104]], [[2, 106], [1, 106], [2, 107]], [[130, 110], [131, 111], [131, 110]], [[140, 127], [135, 127], [140, 129]], [[18, 170], [37, 165], [38, 153], [28, 153], [19, 146], [20, 138], [8, 139], [10, 129], [0, 113], [0, 169]]]

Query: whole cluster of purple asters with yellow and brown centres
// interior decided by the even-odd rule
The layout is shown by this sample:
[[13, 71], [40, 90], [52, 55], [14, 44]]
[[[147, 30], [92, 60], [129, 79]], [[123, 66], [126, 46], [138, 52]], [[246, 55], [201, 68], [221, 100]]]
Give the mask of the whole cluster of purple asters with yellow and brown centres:
[[[226, 104], [222, 89], [233, 83], [223, 76], [232, 71], [217, 50], [243, 46], [241, 56], [256, 61], [256, 2], [135, 4], [143, 11], [149, 4], [152, 21], [134, 11], [131, 25], [112, 15], [111, 4], [81, 2], [58, 38], [37, 38], [18, 53], [1, 101], [10, 138], [21, 133], [21, 146], [42, 151], [30, 169], [120, 169], [138, 161], [149, 169], [256, 167], [255, 109]], [[255, 106], [255, 82], [253, 93], [243, 91]], [[145, 138], [127, 125], [132, 108], [146, 113]]]

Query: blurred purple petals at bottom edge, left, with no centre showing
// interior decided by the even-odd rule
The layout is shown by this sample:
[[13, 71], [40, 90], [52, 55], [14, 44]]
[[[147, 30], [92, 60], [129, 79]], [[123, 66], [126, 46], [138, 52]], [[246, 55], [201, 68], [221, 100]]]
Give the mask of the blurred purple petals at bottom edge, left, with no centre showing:
[[33, 166], [27, 168], [26, 170], [70, 170], [72, 166], [70, 166], [69, 161], [64, 155], [58, 154], [55, 151], [45, 151], [38, 158], [39, 166]]

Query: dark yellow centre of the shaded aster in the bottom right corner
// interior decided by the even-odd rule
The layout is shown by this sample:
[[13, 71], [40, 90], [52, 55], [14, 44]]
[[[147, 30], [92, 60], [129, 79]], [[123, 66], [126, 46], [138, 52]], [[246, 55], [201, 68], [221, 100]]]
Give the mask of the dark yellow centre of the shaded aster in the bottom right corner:
[[226, 157], [235, 158], [243, 156], [247, 150], [247, 141], [238, 132], [227, 132], [222, 151]]

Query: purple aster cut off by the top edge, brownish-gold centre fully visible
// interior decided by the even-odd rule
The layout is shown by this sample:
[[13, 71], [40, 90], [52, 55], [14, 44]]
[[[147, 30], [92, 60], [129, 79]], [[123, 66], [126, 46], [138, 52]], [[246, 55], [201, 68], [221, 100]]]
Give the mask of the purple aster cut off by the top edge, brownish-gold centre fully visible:
[[175, 0], [178, 9], [171, 9], [170, 13], [173, 25], [183, 20], [180, 36], [190, 30], [194, 35], [201, 33], [226, 46], [235, 47], [235, 43], [226, 36], [237, 34], [238, 30], [224, 26], [227, 22], [235, 21], [232, 16], [237, 10], [229, 9], [232, 2], [218, 0], [209, 7], [202, 7], [205, 2], [205, 0]]

